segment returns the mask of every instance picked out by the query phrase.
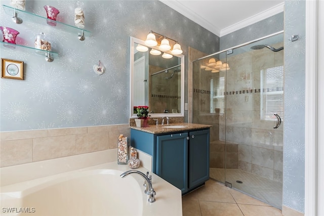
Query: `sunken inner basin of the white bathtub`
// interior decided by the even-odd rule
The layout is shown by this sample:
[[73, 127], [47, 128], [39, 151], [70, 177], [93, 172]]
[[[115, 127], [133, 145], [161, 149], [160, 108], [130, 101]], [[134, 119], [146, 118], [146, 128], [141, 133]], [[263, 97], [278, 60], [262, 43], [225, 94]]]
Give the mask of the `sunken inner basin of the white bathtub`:
[[121, 173], [113, 169], [79, 171], [39, 185], [30, 183], [23, 191], [2, 192], [2, 214], [142, 215], [143, 188], [133, 176], [120, 178]]

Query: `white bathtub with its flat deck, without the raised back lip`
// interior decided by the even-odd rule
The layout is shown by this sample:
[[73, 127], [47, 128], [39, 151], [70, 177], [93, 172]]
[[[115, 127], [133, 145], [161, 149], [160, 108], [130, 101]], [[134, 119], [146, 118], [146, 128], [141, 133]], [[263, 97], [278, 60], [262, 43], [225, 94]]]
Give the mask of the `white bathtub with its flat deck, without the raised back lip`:
[[[0, 187], [1, 215], [182, 215], [181, 191], [152, 175], [153, 203], [140, 175], [117, 162], [99, 164]], [[145, 173], [147, 169], [137, 170]]]

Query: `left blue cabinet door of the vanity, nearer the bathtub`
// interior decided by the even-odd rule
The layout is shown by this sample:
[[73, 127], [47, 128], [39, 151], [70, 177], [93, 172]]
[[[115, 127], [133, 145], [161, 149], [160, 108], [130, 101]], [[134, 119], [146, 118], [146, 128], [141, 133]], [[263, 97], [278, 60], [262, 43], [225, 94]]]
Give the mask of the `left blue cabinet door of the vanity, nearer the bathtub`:
[[156, 174], [179, 188], [188, 189], [188, 133], [156, 137]]

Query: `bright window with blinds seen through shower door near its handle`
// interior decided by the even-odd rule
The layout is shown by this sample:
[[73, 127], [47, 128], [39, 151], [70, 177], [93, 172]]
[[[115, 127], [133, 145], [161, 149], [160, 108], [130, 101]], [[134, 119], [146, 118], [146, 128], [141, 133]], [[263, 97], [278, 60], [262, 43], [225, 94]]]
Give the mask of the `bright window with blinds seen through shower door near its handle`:
[[281, 120], [284, 117], [284, 66], [261, 70], [261, 100], [260, 110], [262, 120]]

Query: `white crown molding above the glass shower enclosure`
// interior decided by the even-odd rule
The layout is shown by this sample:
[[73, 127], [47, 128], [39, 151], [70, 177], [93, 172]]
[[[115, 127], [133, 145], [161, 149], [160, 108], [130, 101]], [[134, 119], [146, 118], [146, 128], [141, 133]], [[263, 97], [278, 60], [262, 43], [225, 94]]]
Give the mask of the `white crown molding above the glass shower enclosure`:
[[264, 20], [266, 18], [269, 18], [273, 15], [276, 15], [276, 14], [279, 14], [281, 12], [284, 12], [284, 6], [285, 6], [285, 3], [280, 3], [272, 8], [269, 8], [268, 10], [266, 11], [263, 11], [261, 13], [258, 13], [252, 17], [249, 17], [245, 20], [242, 20], [242, 21], [239, 21], [231, 26], [228, 26], [226, 28], [223, 28], [221, 30], [221, 33], [220, 33], [220, 36], [224, 36], [226, 34], [229, 34], [231, 32], [234, 32], [238, 29], [241, 29], [241, 28], [244, 28], [244, 27], [247, 27], [249, 25], [252, 25], [254, 23], [257, 23], [261, 20]]

